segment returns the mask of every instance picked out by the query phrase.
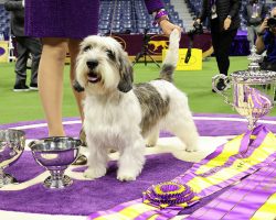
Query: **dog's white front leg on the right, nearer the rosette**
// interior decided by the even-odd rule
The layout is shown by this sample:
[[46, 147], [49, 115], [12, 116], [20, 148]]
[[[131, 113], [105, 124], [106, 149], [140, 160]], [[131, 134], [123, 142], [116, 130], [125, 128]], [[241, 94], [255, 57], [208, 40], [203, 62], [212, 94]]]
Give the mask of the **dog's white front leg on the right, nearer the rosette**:
[[117, 179], [124, 182], [135, 180], [141, 173], [145, 164], [145, 141], [142, 136], [134, 140], [132, 143], [128, 142], [123, 147], [119, 158], [119, 169]]

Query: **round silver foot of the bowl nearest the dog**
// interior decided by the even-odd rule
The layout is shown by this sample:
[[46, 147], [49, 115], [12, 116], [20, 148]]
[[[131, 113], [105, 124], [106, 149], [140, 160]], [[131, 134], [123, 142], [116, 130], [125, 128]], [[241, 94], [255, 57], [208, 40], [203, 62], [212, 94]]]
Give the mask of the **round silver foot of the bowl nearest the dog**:
[[52, 176], [49, 176], [45, 180], [44, 180], [44, 184], [43, 186], [46, 187], [46, 188], [51, 188], [51, 189], [64, 189], [68, 186], [71, 186], [73, 184], [73, 180], [64, 175], [64, 176], [61, 176], [60, 178], [53, 178]]

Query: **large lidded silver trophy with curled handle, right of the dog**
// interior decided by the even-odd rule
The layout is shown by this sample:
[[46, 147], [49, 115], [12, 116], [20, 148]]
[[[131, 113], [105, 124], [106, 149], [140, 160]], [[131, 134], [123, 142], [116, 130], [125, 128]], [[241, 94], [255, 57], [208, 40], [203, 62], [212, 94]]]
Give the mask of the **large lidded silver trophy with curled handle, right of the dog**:
[[[216, 75], [212, 78], [213, 89], [224, 97], [224, 101], [232, 106], [237, 113], [245, 117], [248, 121], [248, 130], [256, 127], [259, 118], [266, 116], [274, 106], [276, 73], [270, 70], [261, 70], [259, 62], [263, 56], [256, 54], [256, 47], [253, 46], [248, 70], [234, 72], [230, 77]], [[232, 86], [232, 101], [226, 91], [220, 91], [216, 82], [224, 80], [227, 87]]]

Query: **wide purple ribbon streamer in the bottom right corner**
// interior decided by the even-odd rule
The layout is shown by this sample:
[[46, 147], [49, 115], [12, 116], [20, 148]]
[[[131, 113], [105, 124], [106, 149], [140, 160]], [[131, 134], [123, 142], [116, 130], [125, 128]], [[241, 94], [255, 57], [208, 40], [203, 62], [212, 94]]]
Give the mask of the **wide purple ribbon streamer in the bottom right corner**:
[[251, 219], [276, 193], [276, 162], [263, 167], [185, 219]]

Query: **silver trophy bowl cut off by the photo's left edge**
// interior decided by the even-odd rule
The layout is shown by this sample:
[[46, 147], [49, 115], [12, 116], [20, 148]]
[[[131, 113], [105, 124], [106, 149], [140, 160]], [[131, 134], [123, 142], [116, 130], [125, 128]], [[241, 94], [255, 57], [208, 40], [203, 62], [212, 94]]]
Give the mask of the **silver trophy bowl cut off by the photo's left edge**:
[[15, 163], [24, 151], [25, 133], [21, 130], [0, 130], [0, 188], [8, 184], [17, 184], [18, 180], [3, 172]]

